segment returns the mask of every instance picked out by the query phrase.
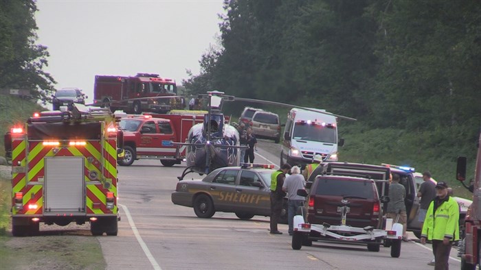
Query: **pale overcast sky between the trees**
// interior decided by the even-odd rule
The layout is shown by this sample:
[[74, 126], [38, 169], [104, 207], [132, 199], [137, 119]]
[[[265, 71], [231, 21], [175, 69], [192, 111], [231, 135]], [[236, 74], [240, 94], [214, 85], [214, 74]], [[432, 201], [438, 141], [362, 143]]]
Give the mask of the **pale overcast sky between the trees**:
[[93, 98], [96, 75], [156, 73], [187, 79], [220, 35], [223, 0], [37, 0], [37, 44], [56, 89]]

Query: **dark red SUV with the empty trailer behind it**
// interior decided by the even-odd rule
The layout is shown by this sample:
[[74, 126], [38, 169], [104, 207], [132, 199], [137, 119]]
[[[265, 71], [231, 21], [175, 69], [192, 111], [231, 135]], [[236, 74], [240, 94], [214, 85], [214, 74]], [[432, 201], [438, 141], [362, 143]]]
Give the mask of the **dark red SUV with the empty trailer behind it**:
[[345, 175], [317, 175], [310, 186], [306, 221], [341, 224], [338, 207], [348, 204], [346, 225], [381, 228], [381, 200], [372, 179]]

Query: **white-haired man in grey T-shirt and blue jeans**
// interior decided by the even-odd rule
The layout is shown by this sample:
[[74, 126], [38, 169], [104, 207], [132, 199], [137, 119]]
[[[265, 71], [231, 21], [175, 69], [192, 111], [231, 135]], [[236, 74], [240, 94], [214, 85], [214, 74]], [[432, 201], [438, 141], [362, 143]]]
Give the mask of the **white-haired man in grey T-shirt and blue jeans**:
[[282, 185], [282, 191], [287, 192], [287, 223], [289, 224], [289, 235], [294, 232], [294, 216], [298, 208], [304, 204], [306, 198], [298, 195], [299, 189], [304, 189], [306, 180], [300, 174], [300, 168], [294, 166], [291, 168], [291, 175], [287, 176]]

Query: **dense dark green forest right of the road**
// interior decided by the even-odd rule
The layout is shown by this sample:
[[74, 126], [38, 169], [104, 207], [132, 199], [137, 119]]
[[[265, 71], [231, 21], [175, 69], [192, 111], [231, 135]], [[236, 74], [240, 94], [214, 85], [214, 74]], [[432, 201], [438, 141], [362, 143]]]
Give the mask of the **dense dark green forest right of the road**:
[[476, 0], [225, 0], [219, 49], [183, 81], [323, 108], [371, 127], [473, 127], [481, 116]]

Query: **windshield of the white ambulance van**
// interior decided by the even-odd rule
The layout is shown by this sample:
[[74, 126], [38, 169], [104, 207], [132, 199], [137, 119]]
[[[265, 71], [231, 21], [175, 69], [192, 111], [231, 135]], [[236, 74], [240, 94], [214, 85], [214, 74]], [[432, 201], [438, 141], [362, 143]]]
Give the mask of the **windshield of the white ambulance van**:
[[295, 140], [337, 143], [335, 127], [316, 124], [295, 123], [293, 138]]

